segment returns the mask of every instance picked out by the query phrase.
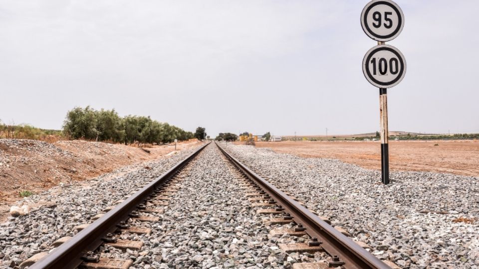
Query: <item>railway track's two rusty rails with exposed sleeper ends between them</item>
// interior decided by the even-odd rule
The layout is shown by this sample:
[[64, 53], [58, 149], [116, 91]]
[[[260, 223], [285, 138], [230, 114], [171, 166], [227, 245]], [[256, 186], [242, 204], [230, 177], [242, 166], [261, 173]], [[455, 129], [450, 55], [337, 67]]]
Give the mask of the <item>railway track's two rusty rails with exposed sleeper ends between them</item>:
[[[40, 268], [129, 268], [131, 260], [126, 259], [100, 259], [99, 248], [109, 247], [122, 250], [141, 250], [141, 241], [124, 240], [121, 234], [148, 234], [151, 229], [149, 223], [160, 221], [157, 216], [164, 212], [162, 206], [168, 205], [175, 193], [179, 190], [182, 180], [188, 180], [189, 166], [200, 152], [209, 144], [205, 144], [187, 158], [183, 159], [169, 171], [155, 178], [149, 184], [132, 193], [124, 201], [119, 201], [115, 207], [105, 209], [107, 213], [98, 216], [92, 224], [82, 227], [72, 238], [59, 240], [58, 247], [49, 254], [38, 255], [29, 259], [20, 267], [30, 269]], [[223, 159], [230, 170], [230, 176], [235, 177], [239, 192], [248, 198], [252, 208], [258, 208], [256, 215], [268, 216], [264, 222], [268, 225], [284, 225], [289, 229], [271, 229], [269, 235], [278, 237], [282, 235], [308, 238], [292, 244], [278, 244], [284, 253], [324, 252], [328, 258], [318, 263], [293, 263], [292, 268], [331, 268], [345, 269], [362, 268], [391, 268], [383, 261], [377, 259], [363, 247], [354, 243], [340, 231], [330, 226], [315, 213], [309, 211], [294, 197], [274, 187], [265, 179], [244, 166], [225, 149], [216, 144], [223, 153]], [[210, 145], [213, 147], [213, 145]], [[218, 149], [215, 149], [218, 151]], [[210, 149], [211, 151], [212, 149]], [[197, 157], [198, 156], [198, 157]], [[204, 167], [202, 168], [204, 169]], [[151, 213], [151, 214], [150, 214]], [[146, 225], [141, 225], [146, 223]], [[79, 228], [80, 229], [80, 228]], [[129, 237], [128, 237], [129, 238]], [[63, 241], [63, 242], [62, 242]], [[189, 266], [201, 268], [200, 265]], [[180, 267], [176, 267], [180, 268]]]

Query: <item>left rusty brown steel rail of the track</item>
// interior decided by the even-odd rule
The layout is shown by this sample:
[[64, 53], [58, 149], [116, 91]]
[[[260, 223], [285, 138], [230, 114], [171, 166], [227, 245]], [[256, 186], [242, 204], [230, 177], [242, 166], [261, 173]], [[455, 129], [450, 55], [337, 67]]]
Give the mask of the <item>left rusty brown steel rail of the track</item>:
[[181, 168], [190, 162], [210, 143], [203, 145], [173, 168], [155, 178], [137, 193], [133, 194], [114, 209], [108, 211], [104, 216], [88, 225], [88, 227], [81, 230], [78, 234], [60, 245], [58, 248], [54, 249], [50, 254], [31, 265], [29, 269], [77, 268], [83, 262], [82, 257], [85, 256], [88, 251], [94, 251], [104, 243], [102, 237], [107, 233], [114, 233], [118, 229], [116, 225], [119, 222], [128, 220], [129, 214], [134, 211], [139, 204], [144, 203], [148, 196], [153, 194], [155, 189], [179, 172]]

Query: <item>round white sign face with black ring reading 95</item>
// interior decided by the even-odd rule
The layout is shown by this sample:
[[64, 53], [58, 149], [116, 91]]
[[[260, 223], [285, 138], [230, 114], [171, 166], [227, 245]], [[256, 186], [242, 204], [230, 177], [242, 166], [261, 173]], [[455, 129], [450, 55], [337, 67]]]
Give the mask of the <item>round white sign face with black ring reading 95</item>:
[[372, 39], [389, 41], [403, 30], [404, 14], [391, 0], [372, 0], [361, 12], [361, 26]]

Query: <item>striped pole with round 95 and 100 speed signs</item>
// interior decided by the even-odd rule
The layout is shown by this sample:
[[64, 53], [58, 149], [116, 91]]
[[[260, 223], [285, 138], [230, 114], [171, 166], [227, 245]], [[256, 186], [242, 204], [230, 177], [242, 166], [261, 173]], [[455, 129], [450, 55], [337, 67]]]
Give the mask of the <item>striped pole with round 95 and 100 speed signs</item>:
[[372, 0], [361, 12], [364, 32], [378, 45], [371, 48], [363, 59], [363, 74], [379, 88], [379, 116], [381, 134], [381, 181], [389, 184], [388, 99], [387, 89], [403, 80], [406, 59], [397, 48], [386, 45], [396, 38], [404, 27], [404, 14], [391, 0]]

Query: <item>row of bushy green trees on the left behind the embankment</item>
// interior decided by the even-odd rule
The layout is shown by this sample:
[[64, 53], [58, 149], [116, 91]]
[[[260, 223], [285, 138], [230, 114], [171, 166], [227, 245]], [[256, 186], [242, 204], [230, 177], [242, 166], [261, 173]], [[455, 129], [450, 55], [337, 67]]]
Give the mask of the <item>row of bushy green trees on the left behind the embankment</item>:
[[75, 107], [68, 111], [63, 122], [63, 132], [70, 139], [121, 142], [125, 144], [169, 143], [194, 137], [168, 123], [160, 123], [149, 116], [128, 115], [120, 117], [112, 110], [95, 110]]

